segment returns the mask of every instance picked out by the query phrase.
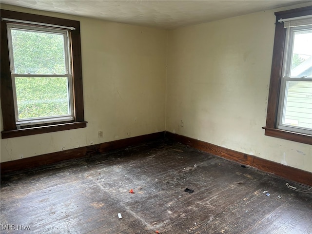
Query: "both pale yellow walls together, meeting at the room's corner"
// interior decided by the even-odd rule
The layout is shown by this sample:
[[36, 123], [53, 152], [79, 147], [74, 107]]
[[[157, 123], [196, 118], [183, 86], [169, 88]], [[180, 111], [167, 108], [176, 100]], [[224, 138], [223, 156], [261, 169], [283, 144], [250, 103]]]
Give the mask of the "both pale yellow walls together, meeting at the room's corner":
[[88, 121], [1, 139], [1, 162], [167, 130], [312, 172], [310, 145], [266, 137], [261, 128], [276, 9], [167, 32], [1, 7], [80, 20]]

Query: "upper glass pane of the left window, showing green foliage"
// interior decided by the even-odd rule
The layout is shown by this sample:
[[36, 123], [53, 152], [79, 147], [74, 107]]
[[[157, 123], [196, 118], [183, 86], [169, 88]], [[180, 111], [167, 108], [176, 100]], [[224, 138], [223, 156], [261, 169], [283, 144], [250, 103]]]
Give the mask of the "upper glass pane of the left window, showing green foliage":
[[64, 36], [11, 29], [15, 73], [66, 74]]

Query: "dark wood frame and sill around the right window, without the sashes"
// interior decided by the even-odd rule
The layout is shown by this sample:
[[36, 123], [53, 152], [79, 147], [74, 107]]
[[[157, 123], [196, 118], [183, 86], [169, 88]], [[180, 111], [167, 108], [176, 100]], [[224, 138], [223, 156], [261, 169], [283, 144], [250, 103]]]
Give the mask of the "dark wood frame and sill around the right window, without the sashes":
[[292, 131], [285, 131], [278, 129], [277, 115], [278, 115], [278, 103], [280, 95], [281, 76], [284, 62], [284, 47], [286, 40], [286, 28], [283, 23], [279, 23], [279, 19], [288, 19], [300, 16], [312, 15], [312, 6], [302, 7], [287, 11], [280, 11], [274, 13], [276, 16], [275, 22], [275, 37], [273, 47], [273, 59], [271, 68], [271, 80], [268, 98], [267, 108], [267, 121], [265, 129], [265, 135], [271, 137], [278, 137], [282, 139], [292, 140], [305, 144], [312, 144], [312, 136], [308, 134], [301, 134]]

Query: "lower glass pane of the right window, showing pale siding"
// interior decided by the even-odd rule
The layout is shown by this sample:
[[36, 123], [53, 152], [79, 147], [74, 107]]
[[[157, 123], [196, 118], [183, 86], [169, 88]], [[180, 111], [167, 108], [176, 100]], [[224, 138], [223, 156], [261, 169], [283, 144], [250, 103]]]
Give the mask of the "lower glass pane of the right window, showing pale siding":
[[284, 125], [312, 129], [312, 82], [287, 81]]

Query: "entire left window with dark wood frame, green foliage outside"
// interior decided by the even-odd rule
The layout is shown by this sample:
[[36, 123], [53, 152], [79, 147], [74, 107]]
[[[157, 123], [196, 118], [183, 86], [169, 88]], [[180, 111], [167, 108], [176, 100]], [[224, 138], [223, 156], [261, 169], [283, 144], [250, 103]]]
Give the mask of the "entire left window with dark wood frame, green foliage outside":
[[2, 138], [86, 127], [79, 22], [1, 10]]

